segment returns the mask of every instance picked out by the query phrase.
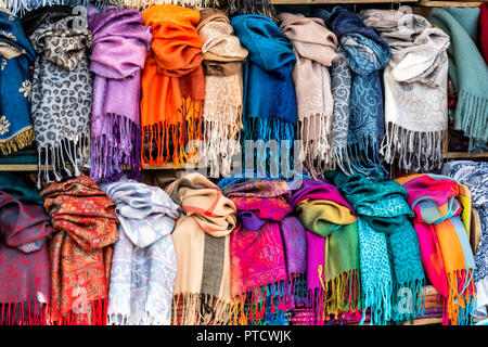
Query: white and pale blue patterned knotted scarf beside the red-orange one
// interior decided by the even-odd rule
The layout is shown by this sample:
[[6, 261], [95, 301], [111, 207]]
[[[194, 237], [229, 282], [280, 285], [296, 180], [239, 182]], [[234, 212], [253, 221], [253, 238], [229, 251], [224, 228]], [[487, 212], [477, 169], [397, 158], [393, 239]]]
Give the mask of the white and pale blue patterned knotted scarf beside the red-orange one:
[[103, 185], [120, 221], [114, 246], [107, 324], [169, 325], [177, 257], [171, 231], [180, 208], [158, 187], [133, 180]]

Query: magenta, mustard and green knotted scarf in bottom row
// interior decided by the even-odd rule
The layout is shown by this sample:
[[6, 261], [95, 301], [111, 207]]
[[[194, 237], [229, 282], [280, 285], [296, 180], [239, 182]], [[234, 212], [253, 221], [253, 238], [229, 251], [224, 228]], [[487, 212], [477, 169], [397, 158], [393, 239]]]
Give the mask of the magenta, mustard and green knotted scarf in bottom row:
[[355, 213], [337, 188], [305, 179], [290, 202], [307, 234], [307, 307], [323, 324], [361, 309], [359, 236]]

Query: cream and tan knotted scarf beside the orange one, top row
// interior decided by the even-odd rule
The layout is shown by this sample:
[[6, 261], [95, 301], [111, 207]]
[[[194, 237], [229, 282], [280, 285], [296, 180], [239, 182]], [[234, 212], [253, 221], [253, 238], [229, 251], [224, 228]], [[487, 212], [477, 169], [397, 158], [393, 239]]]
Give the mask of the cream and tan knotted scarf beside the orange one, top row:
[[232, 156], [241, 152], [242, 69], [247, 50], [220, 10], [202, 10], [196, 29], [203, 40], [205, 69], [204, 143], [198, 157], [210, 167], [211, 177], [227, 177]]

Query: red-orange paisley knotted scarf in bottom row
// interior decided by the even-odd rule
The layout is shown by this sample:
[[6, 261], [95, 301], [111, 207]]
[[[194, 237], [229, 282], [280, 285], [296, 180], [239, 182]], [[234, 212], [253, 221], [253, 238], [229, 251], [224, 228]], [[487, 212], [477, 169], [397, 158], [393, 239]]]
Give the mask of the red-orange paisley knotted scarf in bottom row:
[[115, 204], [84, 174], [40, 194], [57, 231], [49, 244], [51, 320], [105, 325], [112, 245], [118, 240]]

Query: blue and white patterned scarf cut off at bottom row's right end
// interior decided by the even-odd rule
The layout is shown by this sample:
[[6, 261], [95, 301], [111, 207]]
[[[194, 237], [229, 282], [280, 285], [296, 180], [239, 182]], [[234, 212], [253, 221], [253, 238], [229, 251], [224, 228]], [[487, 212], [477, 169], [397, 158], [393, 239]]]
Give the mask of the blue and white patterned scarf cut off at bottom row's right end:
[[488, 163], [450, 162], [445, 164], [442, 174], [468, 188], [472, 206], [477, 210], [479, 217], [481, 230], [479, 242], [475, 245], [477, 248], [474, 255], [476, 308], [473, 314], [478, 318], [486, 318], [488, 314]]

